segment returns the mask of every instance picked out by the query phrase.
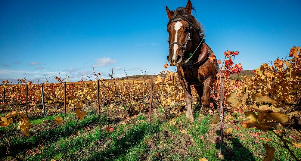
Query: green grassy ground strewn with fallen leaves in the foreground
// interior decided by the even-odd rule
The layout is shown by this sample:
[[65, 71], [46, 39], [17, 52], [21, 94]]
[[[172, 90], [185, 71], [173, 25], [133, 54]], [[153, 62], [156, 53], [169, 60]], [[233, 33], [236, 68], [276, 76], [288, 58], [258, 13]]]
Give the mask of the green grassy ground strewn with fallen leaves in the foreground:
[[[240, 120], [240, 114], [234, 114], [234, 120]], [[64, 125], [54, 125], [54, 117], [37, 118], [31, 120], [33, 126], [29, 137], [22, 135], [22, 132], [12, 128], [0, 128], [1, 132], [11, 135], [10, 153], [23, 158], [24, 160], [61, 159], [67, 150], [72, 134], [80, 133], [74, 137], [72, 144], [67, 150], [63, 160], [104, 160], [104, 161], [138, 161], [138, 160], [198, 160], [199, 157], [206, 157], [210, 161], [217, 161], [216, 155], [219, 152], [219, 144], [211, 140], [218, 137], [209, 135], [212, 116], [195, 114], [195, 121], [189, 123], [185, 115], [173, 119], [175, 125], [169, 121], [162, 121], [162, 118], [154, 116], [152, 122], [148, 122], [147, 114], [141, 113], [128, 124], [116, 122], [114, 118], [107, 118], [103, 115], [96, 115], [95, 111], [88, 111], [84, 120], [80, 121], [75, 131], [73, 114], [60, 115], [65, 119]], [[69, 118], [73, 118], [70, 120]], [[182, 125], [180, 124], [182, 122]], [[89, 126], [90, 130], [85, 127]], [[107, 126], [113, 127], [113, 132], [107, 130]], [[240, 127], [240, 125], [237, 125]], [[186, 133], [183, 133], [183, 130]], [[224, 160], [262, 160], [265, 150], [262, 140], [254, 140], [251, 133], [260, 132], [254, 128], [239, 130], [233, 128], [231, 136], [227, 138], [222, 147]], [[218, 132], [217, 132], [218, 133]], [[238, 137], [238, 134], [242, 134]], [[202, 139], [201, 136], [205, 139]], [[271, 132], [262, 134], [262, 138], [271, 138], [278, 141]], [[245, 139], [241, 139], [244, 137]], [[26, 154], [28, 149], [36, 149], [44, 141], [40, 153], [33, 156]], [[278, 160], [290, 160], [291, 156], [287, 150], [278, 144], [268, 142], [275, 147], [275, 156]], [[278, 141], [279, 142], [279, 141]], [[0, 138], [0, 152], [4, 153], [8, 142]], [[301, 157], [299, 149], [291, 149]], [[1, 159], [1, 158], [0, 158]], [[4, 158], [2, 158], [4, 159]], [[9, 158], [8, 158], [9, 159]], [[12, 159], [12, 158], [10, 158]]]

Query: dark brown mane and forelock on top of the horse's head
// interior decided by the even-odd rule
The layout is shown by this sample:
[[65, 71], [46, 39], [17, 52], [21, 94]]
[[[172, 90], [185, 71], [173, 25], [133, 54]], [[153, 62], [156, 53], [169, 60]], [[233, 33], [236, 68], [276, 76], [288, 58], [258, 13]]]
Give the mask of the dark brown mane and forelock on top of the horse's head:
[[[192, 8], [192, 10], [195, 11], [195, 8]], [[172, 20], [177, 18], [182, 18], [183, 20], [189, 22], [191, 24], [192, 29], [195, 29], [197, 33], [203, 33], [203, 25], [197, 21], [197, 19], [191, 14], [185, 11], [185, 7], [179, 7], [175, 11], [175, 13], [172, 15], [172, 17], [169, 19], [169, 24]]]

